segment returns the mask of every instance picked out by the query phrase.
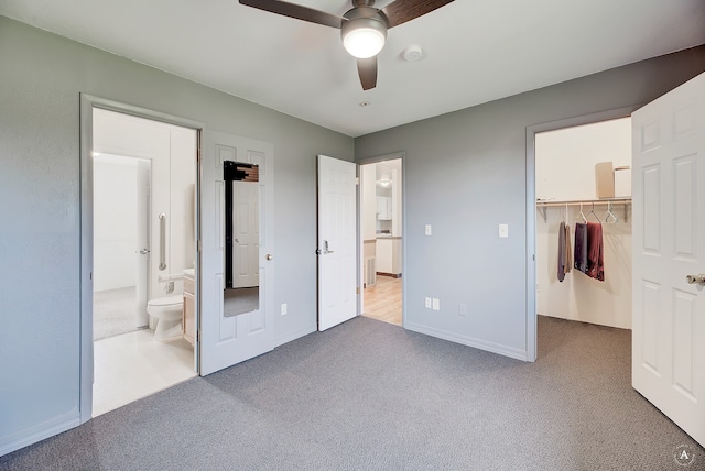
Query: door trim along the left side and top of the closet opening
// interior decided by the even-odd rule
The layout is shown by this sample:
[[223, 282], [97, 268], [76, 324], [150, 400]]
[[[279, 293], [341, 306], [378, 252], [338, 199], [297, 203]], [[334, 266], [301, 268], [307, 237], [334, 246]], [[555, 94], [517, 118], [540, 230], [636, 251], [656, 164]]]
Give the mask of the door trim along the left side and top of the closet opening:
[[628, 118], [639, 106], [617, 108], [527, 127], [527, 350], [525, 361], [536, 361], [536, 155], [535, 135], [540, 132]]

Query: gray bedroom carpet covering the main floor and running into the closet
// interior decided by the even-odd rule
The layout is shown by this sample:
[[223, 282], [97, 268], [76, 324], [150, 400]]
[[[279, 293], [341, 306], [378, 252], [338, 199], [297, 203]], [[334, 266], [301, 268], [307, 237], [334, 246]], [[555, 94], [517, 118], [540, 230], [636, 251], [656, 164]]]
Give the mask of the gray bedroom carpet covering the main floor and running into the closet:
[[[676, 470], [630, 332], [540, 317], [524, 363], [358, 317], [0, 458], [2, 470]], [[675, 447], [696, 452], [675, 464]]]

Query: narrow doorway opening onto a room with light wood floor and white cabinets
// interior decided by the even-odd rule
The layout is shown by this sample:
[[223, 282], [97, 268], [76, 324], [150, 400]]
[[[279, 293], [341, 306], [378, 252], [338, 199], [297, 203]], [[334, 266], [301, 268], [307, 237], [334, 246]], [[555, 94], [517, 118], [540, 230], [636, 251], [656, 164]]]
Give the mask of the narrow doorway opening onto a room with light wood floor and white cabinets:
[[403, 325], [402, 156], [360, 163], [362, 315]]

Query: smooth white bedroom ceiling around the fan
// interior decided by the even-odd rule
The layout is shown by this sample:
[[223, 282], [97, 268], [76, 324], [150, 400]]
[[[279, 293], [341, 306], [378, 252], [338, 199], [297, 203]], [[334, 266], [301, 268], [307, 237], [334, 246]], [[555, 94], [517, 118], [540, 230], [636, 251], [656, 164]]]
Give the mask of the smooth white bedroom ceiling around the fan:
[[[703, 0], [456, 0], [391, 29], [362, 91], [338, 30], [237, 0], [0, 0], [0, 14], [350, 136], [705, 43]], [[411, 44], [421, 61], [403, 59]]]

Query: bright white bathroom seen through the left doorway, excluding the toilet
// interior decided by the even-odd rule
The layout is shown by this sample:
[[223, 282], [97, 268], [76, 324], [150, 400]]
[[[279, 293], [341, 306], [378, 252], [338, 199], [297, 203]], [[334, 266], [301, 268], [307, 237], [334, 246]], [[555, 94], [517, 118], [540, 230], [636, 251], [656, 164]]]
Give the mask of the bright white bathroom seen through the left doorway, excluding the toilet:
[[155, 339], [148, 313], [183, 315], [195, 276], [197, 131], [94, 108], [91, 138], [95, 417], [197, 374], [194, 344]]

